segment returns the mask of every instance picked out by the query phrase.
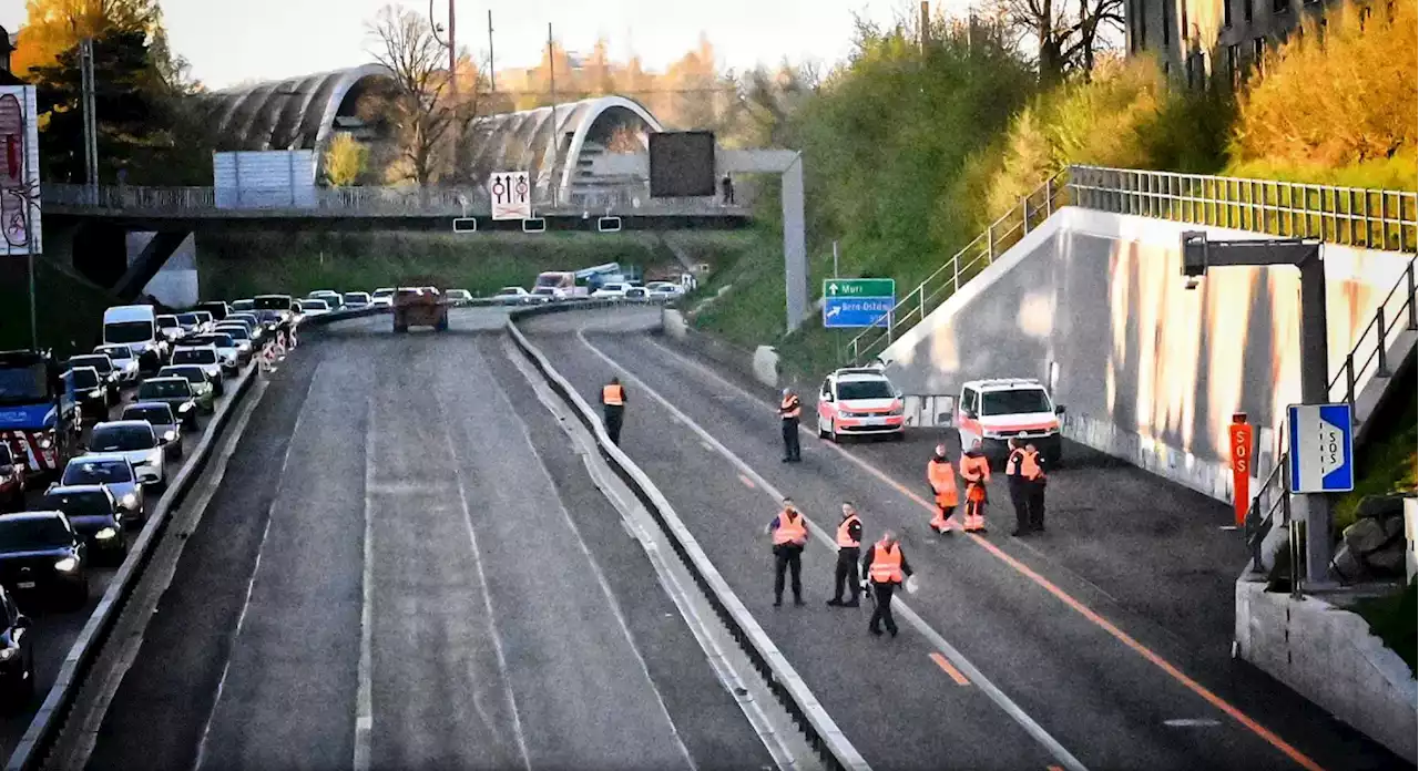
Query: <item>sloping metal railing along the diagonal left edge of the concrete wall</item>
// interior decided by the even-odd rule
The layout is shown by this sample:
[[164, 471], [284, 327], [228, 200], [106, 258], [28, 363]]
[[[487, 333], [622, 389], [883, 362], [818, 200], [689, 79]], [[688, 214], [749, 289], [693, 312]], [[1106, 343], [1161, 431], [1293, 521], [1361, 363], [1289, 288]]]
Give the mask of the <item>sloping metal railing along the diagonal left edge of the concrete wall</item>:
[[[1069, 187], [1061, 184], [1066, 174], [1067, 171], [1054, 174], [1030, 194], [1022, 197], [1017, 206], [990, 223], [981, 235], [976, 235], [925, 281], [907, 292], [890, 312], [878, 316], [873, 322], [874, 326], [853, 337], [847, 343], [849, 360], [853, 364], [861, 364], [880, 354], [902, 332], [925, 320], [927, 313], [935, 310], [964, 283], [995, 262], [995, 258], [1025, 238], [1032, 227], [1047, 220], [1059, 207], [1067, 206]], [[885, 327], [876, 326], [883, 322], [885, 322]]]

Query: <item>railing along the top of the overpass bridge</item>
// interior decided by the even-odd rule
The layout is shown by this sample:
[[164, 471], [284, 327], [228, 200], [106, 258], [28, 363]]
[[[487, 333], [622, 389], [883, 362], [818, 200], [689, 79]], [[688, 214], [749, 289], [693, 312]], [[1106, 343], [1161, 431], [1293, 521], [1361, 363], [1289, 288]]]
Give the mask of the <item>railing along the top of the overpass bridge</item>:
[[[136, 187], [53, 183], [40, 188], [47, 207], [132, 217], [490, 217], [481, 187], [316, 187], [309, 201], [253, 198], [219, 206], [211, 187]], [[714, 197], [651, 198], [646, 186], [573, 191], [568, 200], [534, 201], [536, 217], [741, 217], [749, 204], [728, 206]]]

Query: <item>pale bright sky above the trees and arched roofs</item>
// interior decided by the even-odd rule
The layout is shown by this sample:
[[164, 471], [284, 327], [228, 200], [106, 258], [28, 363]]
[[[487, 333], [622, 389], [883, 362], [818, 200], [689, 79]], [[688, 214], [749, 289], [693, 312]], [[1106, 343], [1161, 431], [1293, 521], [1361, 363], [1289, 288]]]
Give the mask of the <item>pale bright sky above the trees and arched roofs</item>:
[[[370, 61], [368, 21], [390, 0], [160, 0], [173, 50], [207, 88], [289, 78]], [[915, 0], [455, 0], [458, 38], [487, 55], [492, 11], [498, 69], [538, 64], [546, 26], [570, 51], [590, 51], [604, 37], [613, 58], [640, 54], [663, 69], [697, 47], [704, 33], [719, 67], [841, 60], [853, 16], [887, 23], [915, 13]], [[427, 13], [427, 0], [404, 1]], [[440, 23], [448, 0], [434, 0]], [[965, 0], [932, 0], [951, 13]], [[958, 9], [959, 7], [959, 9]], [[0, 0], [0, 24], [24, 23], [24, 0]]]

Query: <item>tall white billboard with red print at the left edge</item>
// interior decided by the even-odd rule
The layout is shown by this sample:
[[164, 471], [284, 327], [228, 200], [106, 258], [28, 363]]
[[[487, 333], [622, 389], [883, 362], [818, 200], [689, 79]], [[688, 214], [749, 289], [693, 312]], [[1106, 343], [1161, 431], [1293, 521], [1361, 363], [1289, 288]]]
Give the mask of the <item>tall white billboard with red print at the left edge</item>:
[[0, 86], [0, 248], [40, 254], [40, 132], [33, 85]]

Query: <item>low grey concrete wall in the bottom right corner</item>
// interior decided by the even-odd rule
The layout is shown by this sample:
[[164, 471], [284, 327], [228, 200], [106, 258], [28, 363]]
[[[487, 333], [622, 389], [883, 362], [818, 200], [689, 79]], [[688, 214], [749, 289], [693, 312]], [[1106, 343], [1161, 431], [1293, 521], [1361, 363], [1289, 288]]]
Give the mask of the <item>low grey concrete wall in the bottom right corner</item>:
[[1237, 581], [1237, 653], [1398, 755], [1419, 762], [1419, 680], [1365, 619]]

